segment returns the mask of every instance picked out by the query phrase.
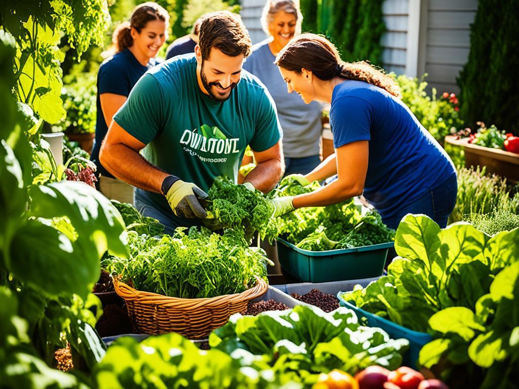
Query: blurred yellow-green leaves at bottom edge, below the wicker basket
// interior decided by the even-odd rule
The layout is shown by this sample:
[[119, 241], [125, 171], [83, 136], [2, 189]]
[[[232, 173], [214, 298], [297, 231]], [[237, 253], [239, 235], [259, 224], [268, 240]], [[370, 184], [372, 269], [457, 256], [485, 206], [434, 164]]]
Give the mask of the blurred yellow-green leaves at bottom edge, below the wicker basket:
[[261, 356], [244, 350], [202, 351], [179, 334], [153, 336], [141, 343], [129, 337], [117, 339], [94, 373], [99, 389], [275, 389], [282, 387], [283, 379]]

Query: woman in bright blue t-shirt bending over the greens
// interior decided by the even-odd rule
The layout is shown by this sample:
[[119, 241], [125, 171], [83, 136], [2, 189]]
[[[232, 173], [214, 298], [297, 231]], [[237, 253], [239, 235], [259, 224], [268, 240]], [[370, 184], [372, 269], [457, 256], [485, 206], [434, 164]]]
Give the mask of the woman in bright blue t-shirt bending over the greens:
[[291, 177], [306, 185], [338, 175], [314, 192], [274, 200], [276, 214], [363, 194], [391, 228], [408, 213], [447, 225], [456, 203], [456, 170], [402, 103], [393, 78], [366, 62], [343, 62], [333, 44], [314, 34], [294, 38], [276, 64], [289, 93], [306, 104], [331, 104], [335, 154], [310, 173]]

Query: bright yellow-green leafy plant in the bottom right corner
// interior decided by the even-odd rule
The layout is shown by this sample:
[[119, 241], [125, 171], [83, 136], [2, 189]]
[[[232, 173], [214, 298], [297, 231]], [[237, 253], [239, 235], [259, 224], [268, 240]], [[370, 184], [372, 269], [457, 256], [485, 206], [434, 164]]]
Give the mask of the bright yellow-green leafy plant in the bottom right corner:
[[519, 262], [499, 272], [472, 309], [451, 307], [429, 320], [435, 339], [420, 351], [420, 364], [445, 380], [468, 370], [467, 387], [512, 388], [519, 373]]

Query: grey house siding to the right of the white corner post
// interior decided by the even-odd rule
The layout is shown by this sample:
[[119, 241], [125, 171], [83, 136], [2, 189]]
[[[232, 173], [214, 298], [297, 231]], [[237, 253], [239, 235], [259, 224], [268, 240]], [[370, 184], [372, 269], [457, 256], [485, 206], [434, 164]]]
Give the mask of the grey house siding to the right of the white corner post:
[[426, 3], [427, 33], [421, 43], [425, 45], [425, 55], [419, 59], [418, 69], [429, 74], [427, 82], [438, 93], [458, 93], [456, 77], [469, 57], [470, 24], [474, 21], [477, 0], [428, 0]]

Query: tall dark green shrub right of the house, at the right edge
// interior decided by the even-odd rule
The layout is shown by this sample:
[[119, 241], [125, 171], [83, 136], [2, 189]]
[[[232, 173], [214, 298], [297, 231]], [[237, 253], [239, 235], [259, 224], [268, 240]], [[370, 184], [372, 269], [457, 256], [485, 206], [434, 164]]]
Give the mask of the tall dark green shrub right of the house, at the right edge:
[[517, 15], [519, 0], [480, 0], [470, 30], [470, 52], [458, 85], [461, 116], [469, 127], [494, 123], [506, 132], [519, 132], [519, 66]]

